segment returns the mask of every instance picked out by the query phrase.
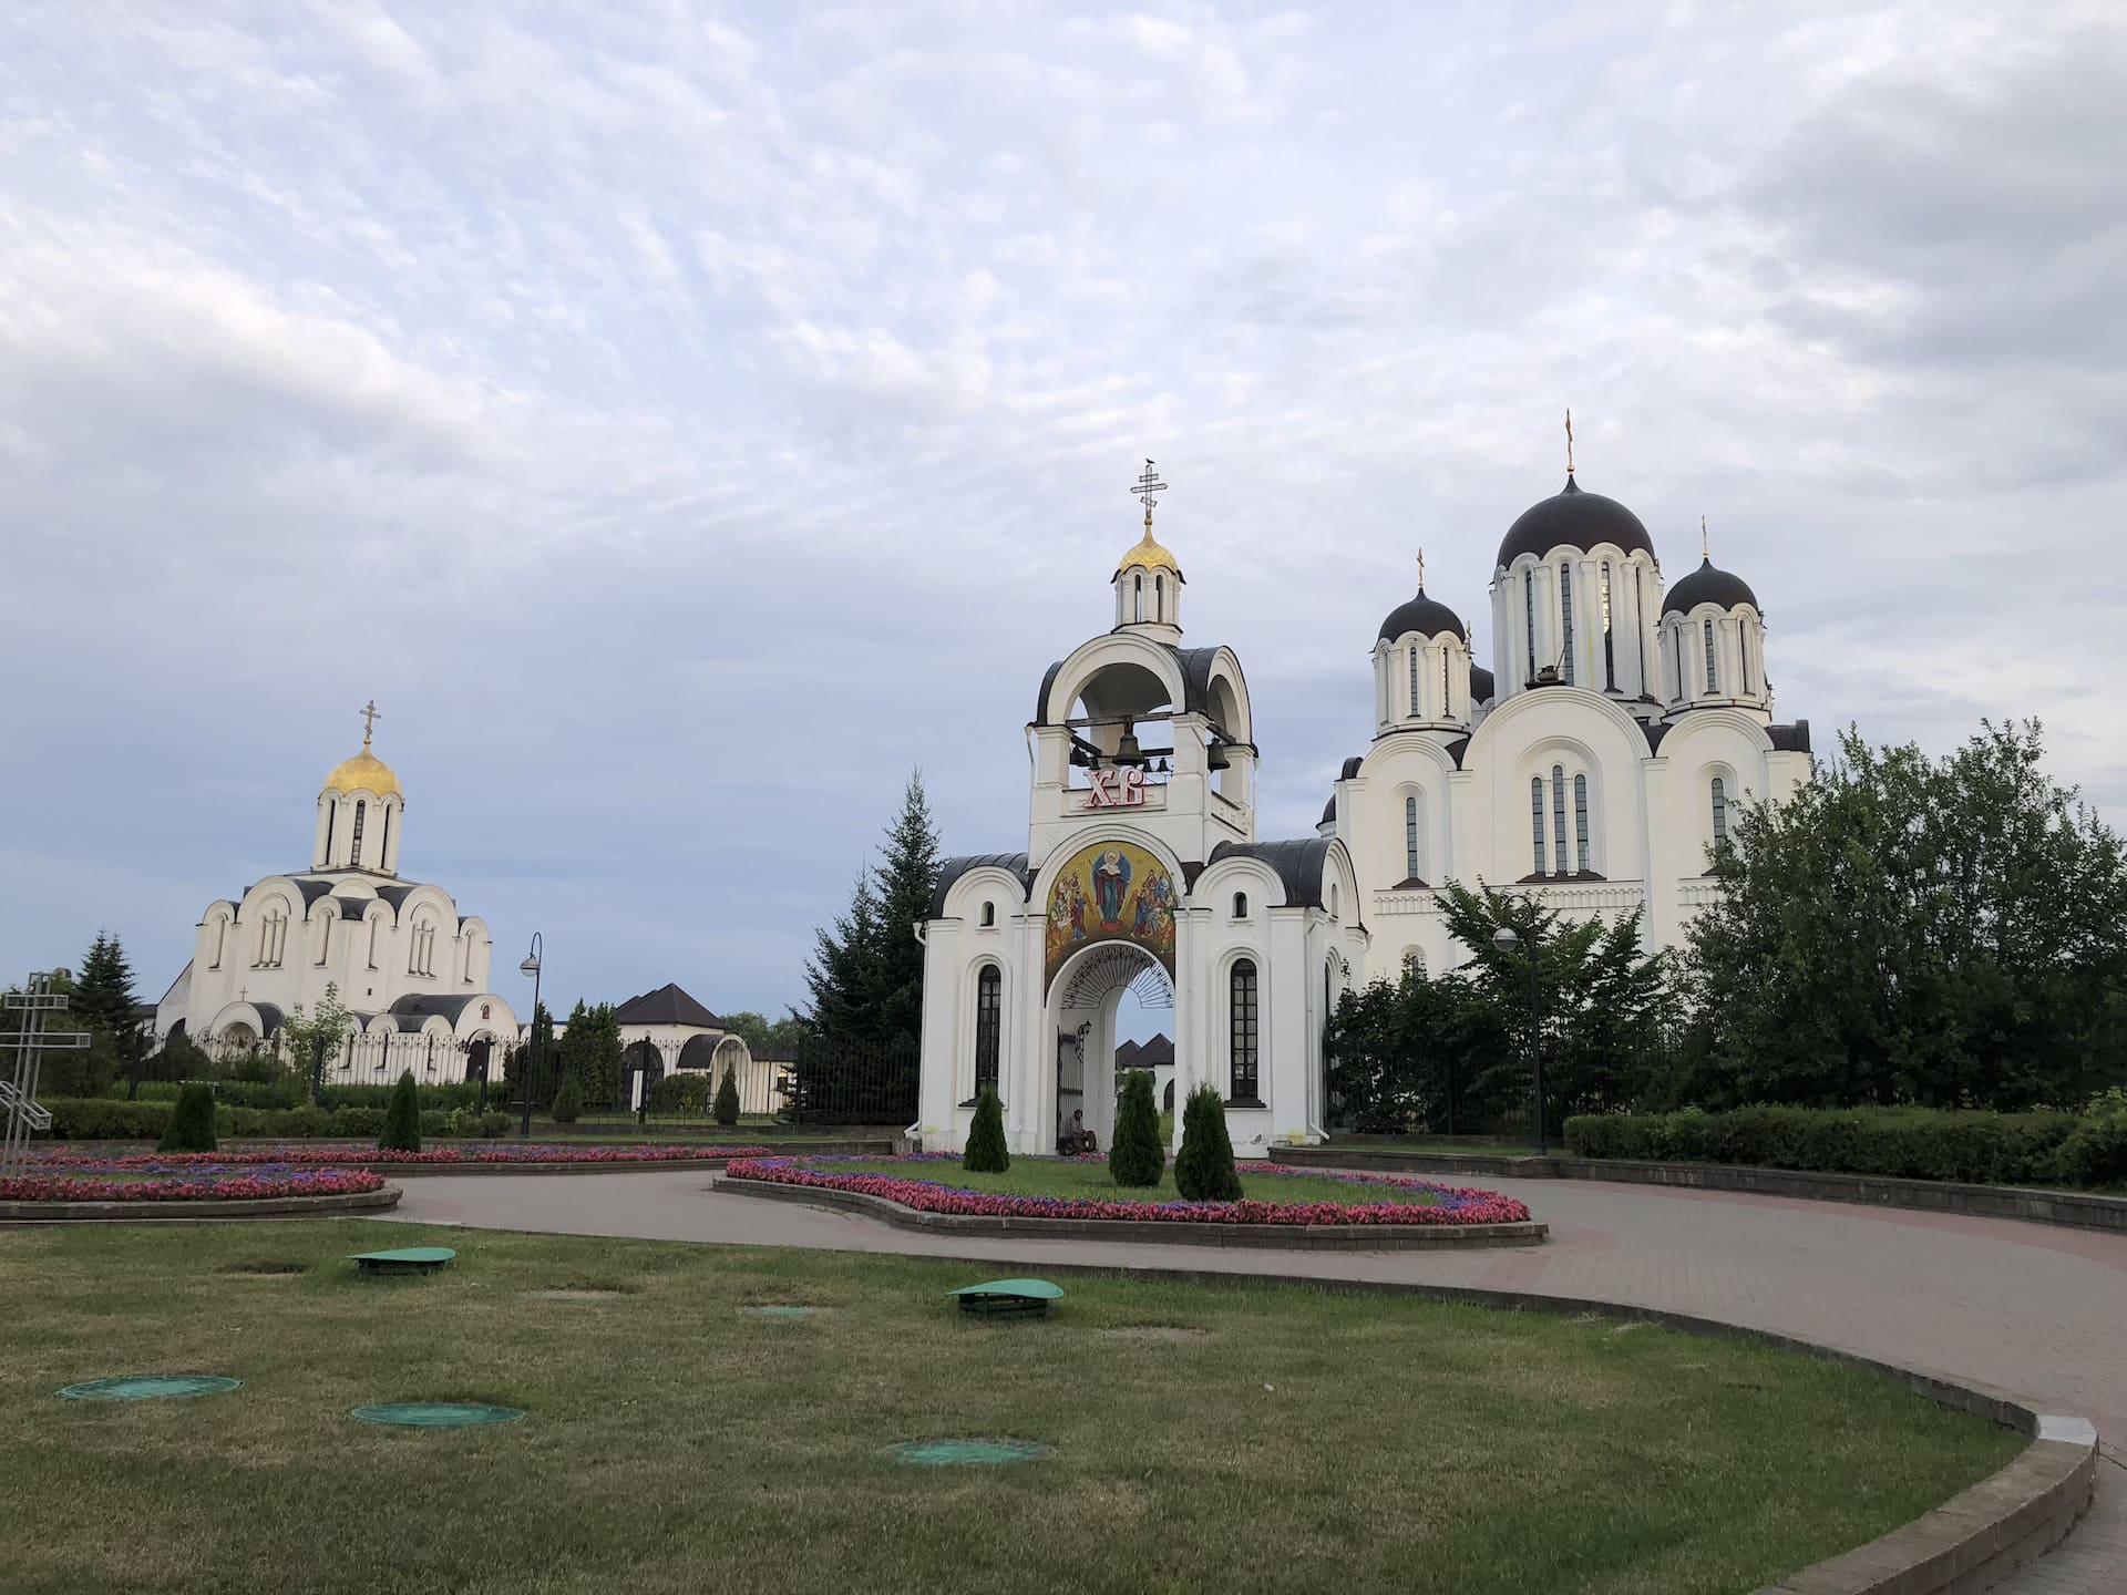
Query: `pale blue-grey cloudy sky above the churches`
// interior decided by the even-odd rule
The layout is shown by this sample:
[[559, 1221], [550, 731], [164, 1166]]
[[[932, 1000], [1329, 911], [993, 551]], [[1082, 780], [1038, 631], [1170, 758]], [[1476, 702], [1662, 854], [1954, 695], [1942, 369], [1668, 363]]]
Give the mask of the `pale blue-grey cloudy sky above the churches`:
[[1144, 455], [1306, 834], [1568, 404], [1819, 746], [2118, 817], [2123, 149], [2116, 0], [9, 6], [0, 970], [160, 995], [374, 695], [498, 966], [774, 1012], [910, 766], [1023, 846]]

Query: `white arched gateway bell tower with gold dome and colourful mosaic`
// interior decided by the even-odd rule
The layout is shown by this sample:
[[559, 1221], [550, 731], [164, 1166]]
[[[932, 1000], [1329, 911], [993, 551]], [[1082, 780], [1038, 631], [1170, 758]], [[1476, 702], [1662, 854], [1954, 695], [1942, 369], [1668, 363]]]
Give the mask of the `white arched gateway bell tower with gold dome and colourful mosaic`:
[[1115, 627], [1034, 704], [1027, 849], [949, 859], [919, 927], [929, 1148], [966, 1144], [985, 1087], [1012, 1151], [1055, 1151], [1074, 1108], [1106, 1146], [1138, 980], [1172, 993], [1176, 1099], [1212, 1082], [1242, 1157], [1323, 1134], [1325, 1004], [1368, 944], [1351, 855], [1255, 840], [1249, 685], [1232, 649], [1180, 644], [1151, 504], [1112, 585]]

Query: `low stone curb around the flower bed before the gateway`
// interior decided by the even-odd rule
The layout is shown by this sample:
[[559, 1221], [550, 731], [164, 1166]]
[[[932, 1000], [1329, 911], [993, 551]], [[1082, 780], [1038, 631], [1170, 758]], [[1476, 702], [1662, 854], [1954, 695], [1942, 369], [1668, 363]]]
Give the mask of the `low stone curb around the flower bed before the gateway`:
[[1200, 1225], [1172, 1219], [1012, 1219], [972, 1212], [919, 1212], [866, 1191], [823, 1185], [776, 1185], [723, 1176], [710, 1191], [813, 1208], [842, 1208], [883, 1219], [898, 1229], [949, 1236], [1017, 1236], [1023, 1240], [1123, 1240], [1189, 1246], [1253, 1246], [1259, 1250], [1470, 1250], [1478, 1246], [1542, 1246], [1551, 1225]]

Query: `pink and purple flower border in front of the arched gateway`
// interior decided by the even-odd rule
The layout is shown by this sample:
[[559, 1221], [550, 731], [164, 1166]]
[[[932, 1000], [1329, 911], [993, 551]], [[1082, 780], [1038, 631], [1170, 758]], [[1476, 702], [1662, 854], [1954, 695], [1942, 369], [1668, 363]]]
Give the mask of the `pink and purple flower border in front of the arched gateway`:
[[[759, 1180], [764, 1185], [802, 1185], [823, 1191], [855, 1191], [859, 1195], [885, 1197], [917, 1212], [942, 1212], [966, 1219], [1123, 1219], [1132, 1223], [1202, 1223], [1202, 1225], [1506, 1225], [1527, 1223], [1529, 1208], [1497, 1191], [1472, 1191], [1455, 1185], [1431, 1185], [1395, 1174], [1323, 1174], [1319, 1170], [1249, 1170], [1255, 1176], [1300, 1174], [1306, 1178], [1334, 1178], [1340, 1185], [1376, 1185], [1391, 1191], [1410, 1191], [1427, 1202], [1363, 1202], [1344, 1206], [1338, 1202], [1263, 1202], [1242, 1197], [1240, 1202], [1100, 1202], [1087, 1197], [1038, 1197], [1000, 1195], [991, 1191], [966, 1191], [940, 1180], [895, 1178], [889, 1174], [834, 1174], [808, 1168], [808, 1163], [832, 1163], [834, 1159], [755, 1157], [734, 1159], [725, 1170], [732, 1180]], [[959, 1159], [940, 1153], [917, 1153], [898, 1159], [904, 1163], [957, 1163]]]

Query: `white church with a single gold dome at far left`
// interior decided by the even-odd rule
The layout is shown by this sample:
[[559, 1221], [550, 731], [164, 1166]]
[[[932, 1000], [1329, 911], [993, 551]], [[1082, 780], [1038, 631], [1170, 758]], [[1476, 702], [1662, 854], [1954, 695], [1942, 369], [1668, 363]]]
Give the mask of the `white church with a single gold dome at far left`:
[[487, 925], [459, 917], [442, 887], [400, 878], [406, 793], [370, 753], [372, 732], [317, 793], [311, 868], [206, 904], [191, 961], [155, 1008], [157, 1044], [277, 1046], [289, 1014], [336, 987], [353, 1021], [325, 1061], [334, 1078], [389, 1082], [411, 1068], [447, 1082], [500, 1065], [517, 1014], [487, 989]]

